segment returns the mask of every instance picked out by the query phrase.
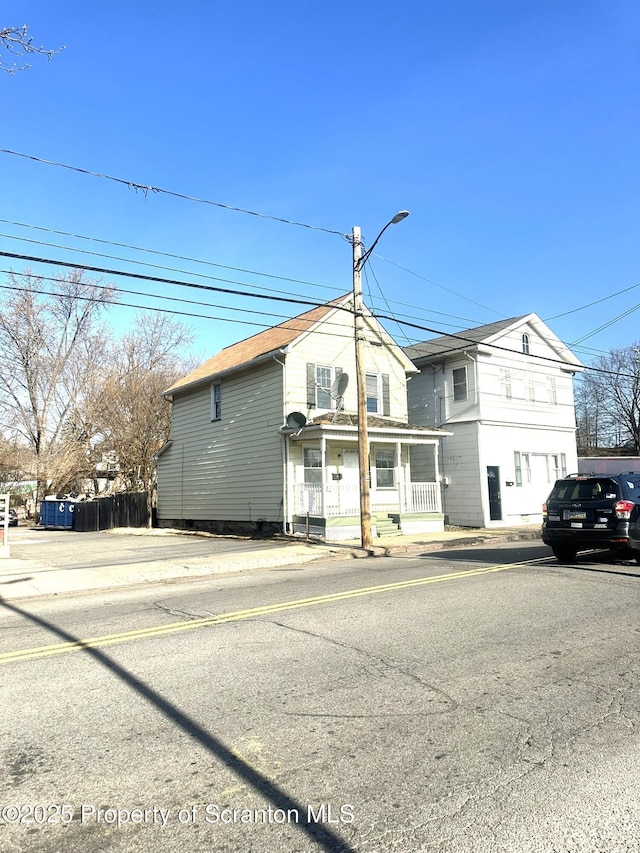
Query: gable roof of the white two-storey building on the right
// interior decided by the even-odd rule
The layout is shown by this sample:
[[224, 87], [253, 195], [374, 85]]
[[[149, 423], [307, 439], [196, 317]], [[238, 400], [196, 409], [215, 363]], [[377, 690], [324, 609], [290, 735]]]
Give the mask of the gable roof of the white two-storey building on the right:
[[432, 338], [420, 344], [404, 347], [404, 352], [412, 361], [418, 363], [435, 356], [473, 349], [479, 344], [494, 345], [499, 349], [500, 345], [497, 342], [500, 338], [504, 337], [507, 332], [514, 331], [527, 324], [532, 326], [545, 343], [558, 354], [559, 360], [577, 368], [583, 366], [582, 362], [535, 313], [511, 317], [508, 320], [497, 320], [495, 323], [486, 323], [484, 326], [476, 326], [473, 329], [466, 329], [452, 335], [442, 335], [439, 338]]

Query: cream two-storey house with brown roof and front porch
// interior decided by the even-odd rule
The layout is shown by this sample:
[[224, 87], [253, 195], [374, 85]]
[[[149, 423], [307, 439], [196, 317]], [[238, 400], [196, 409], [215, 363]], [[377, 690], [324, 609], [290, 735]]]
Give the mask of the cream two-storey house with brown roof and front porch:
[[[416, 368], [365, 310], [372, 532], [442, 530], [442, 431], [407, 423]], [[350, 295], [227, 347], [165, 396], [162, 526], [220, 533], [360, 535], [354, 316]], [[410, 450], [427, 460], [411, 468]]]

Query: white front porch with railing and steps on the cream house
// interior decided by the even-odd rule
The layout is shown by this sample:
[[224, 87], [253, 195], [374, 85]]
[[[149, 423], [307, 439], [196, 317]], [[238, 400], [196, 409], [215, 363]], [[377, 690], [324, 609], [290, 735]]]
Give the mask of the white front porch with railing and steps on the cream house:
[[[370, 427], [374, 537], [444, 530], [438, 432], [393, 422]], [[355, 426], [309, 424], [288, 438], [289, 529], [331, 541], [360, 538]]]

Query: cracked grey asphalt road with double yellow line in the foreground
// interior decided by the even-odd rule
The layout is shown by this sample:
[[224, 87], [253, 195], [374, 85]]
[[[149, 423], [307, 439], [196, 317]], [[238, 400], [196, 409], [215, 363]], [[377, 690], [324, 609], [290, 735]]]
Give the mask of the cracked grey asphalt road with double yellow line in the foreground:
[[0, 849], [638, 853], [640, 574], [599, 560], [0, 603]]

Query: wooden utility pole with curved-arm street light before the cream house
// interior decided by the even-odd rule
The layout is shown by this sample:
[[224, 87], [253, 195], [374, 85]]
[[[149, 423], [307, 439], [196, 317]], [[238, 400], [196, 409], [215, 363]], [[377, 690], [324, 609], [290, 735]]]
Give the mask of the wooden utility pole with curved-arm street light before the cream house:
[[358, 465], [360, 469], [360, 539], [363, 548], [371, 548], [371, 501], [369, 474], [369, 434], [367, 432], [367, 377], [364, 359], [364, 315], [362, 312], [362, 268], [369, 260], [384, 232], [390, 225], [402, 222], [409, 215], [401, 210], [390, 219], [366, 252], [362, 251], [360, 228], [351, 233], [353, 246], [353, 311], [356, 347], [356, 380], [358, 389]]

